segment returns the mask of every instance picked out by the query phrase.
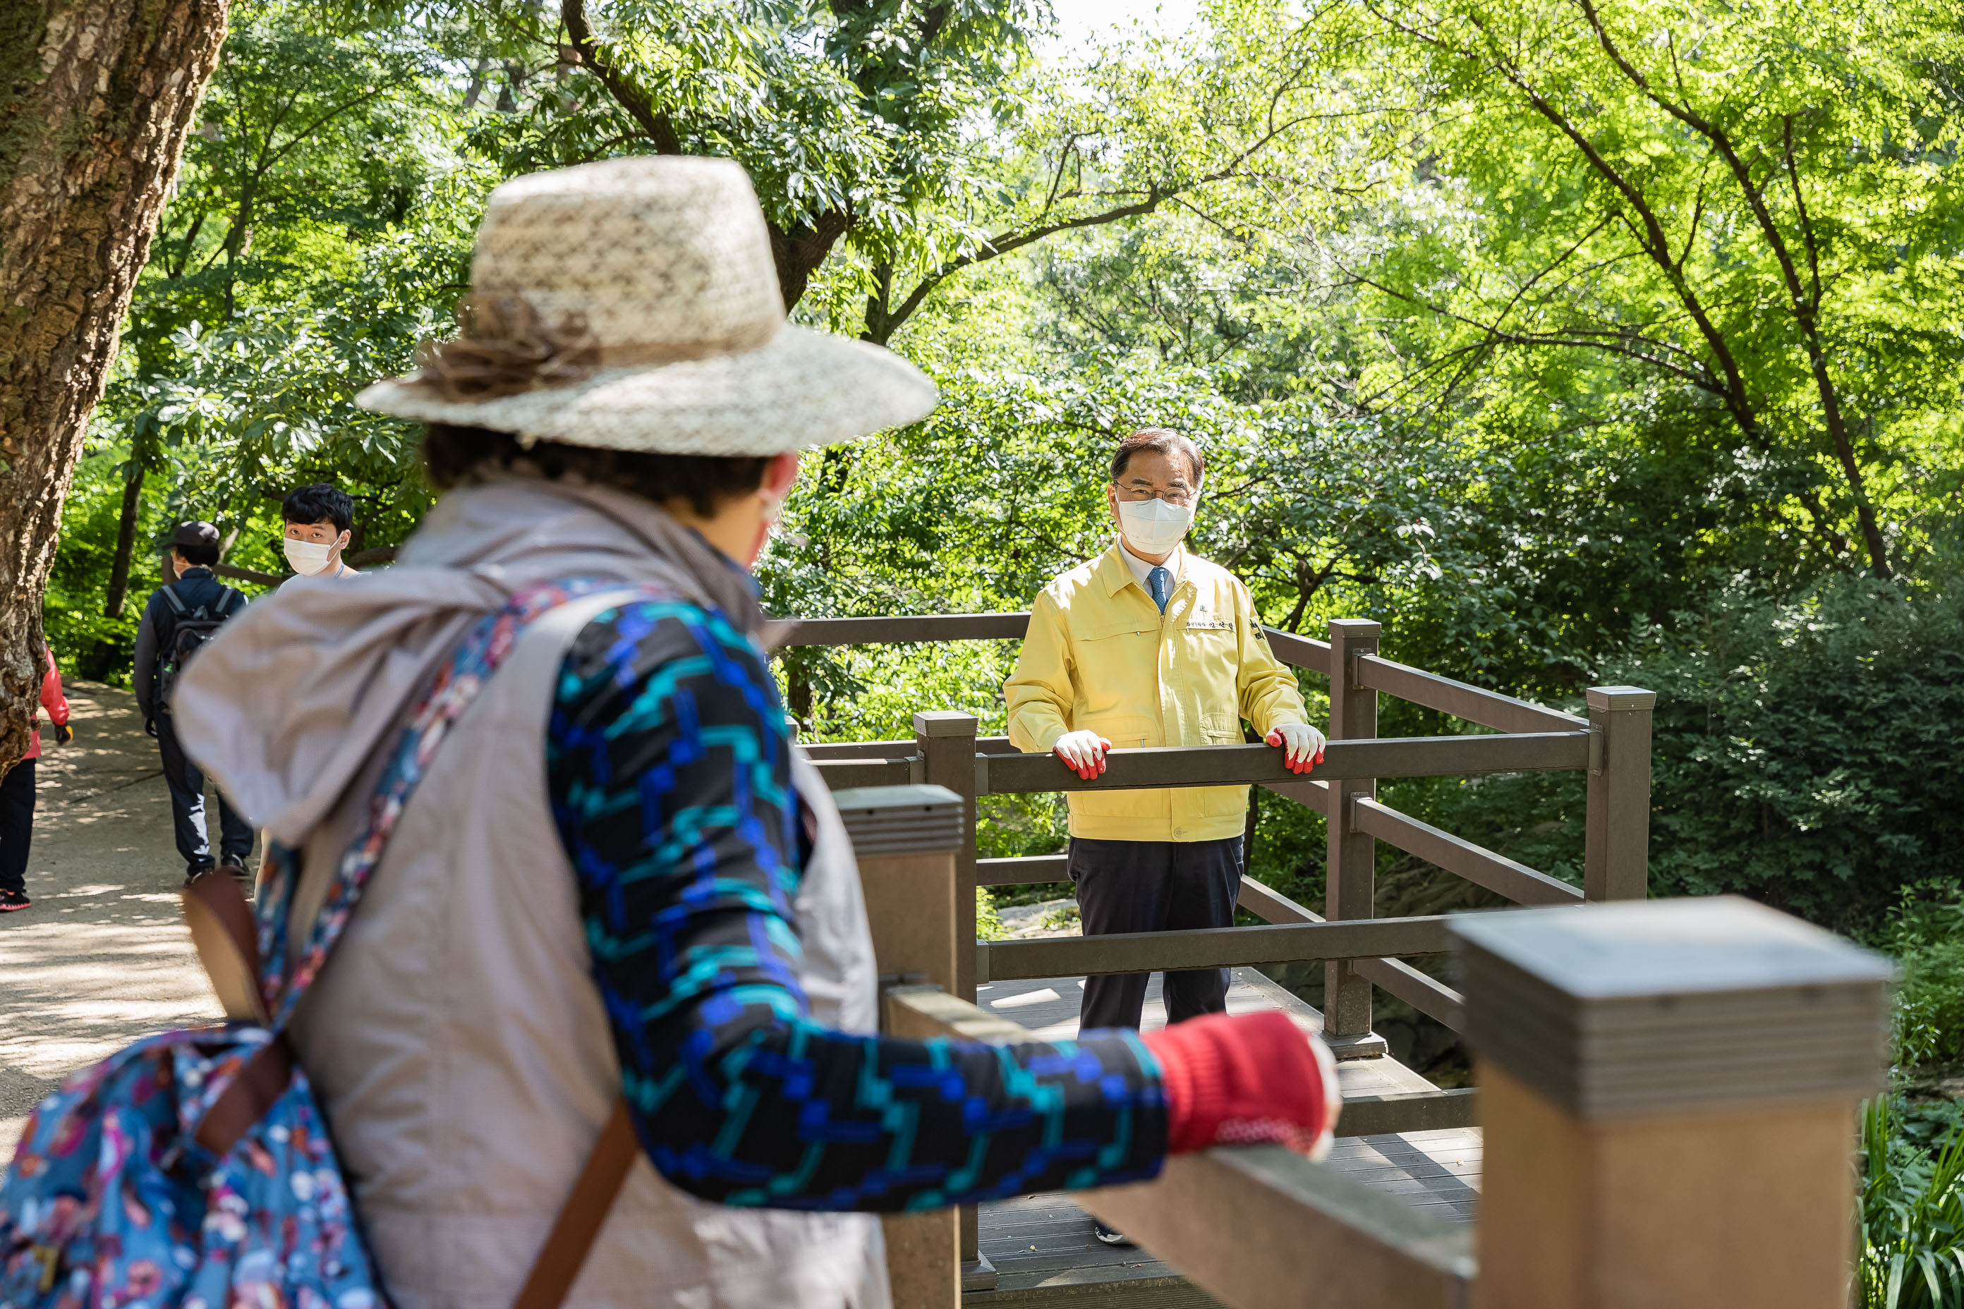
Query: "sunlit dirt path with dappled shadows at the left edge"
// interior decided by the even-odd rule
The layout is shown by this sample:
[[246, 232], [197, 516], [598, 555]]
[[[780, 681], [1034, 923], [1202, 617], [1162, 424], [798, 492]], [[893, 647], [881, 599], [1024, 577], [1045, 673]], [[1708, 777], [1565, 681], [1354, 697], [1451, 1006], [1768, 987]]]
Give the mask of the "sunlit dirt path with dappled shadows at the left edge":
[[0, 916], [0, 1160], [67, 1073], [145, 1032], [218, 1017], [177, 913], [185, 865], [157, 742], [128, 691], [67, 689], [75, 742], [49, 738], [39, 761], [33, 909]]

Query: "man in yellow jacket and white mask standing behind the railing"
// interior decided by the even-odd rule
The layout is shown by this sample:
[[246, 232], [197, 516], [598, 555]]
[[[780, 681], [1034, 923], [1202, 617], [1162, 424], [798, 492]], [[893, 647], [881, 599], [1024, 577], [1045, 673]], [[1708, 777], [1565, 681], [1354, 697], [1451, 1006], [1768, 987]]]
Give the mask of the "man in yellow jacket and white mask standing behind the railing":
[[[1206, 465], [1184, 436], [1133, 432], [1106, 500], [1119, 538], [1037, 597], [1015, 675], [1009, 740], [1096, 777], [1129, 746], [1231, 746], [1247, 718], [1288, 767], [1322, 761], [1296, 677], [1271, 654], [1231, 573], [1180, 544]], [[1086, 934], [1233, 926], [1247, 787], [1070, 795], [1070, 881]], [[1145, 973], [1088, 977], [1080, 1026], [1139, 1026]], [[1167, 973], [1167, 1021], [1228, 1007], [1228, 971]]]

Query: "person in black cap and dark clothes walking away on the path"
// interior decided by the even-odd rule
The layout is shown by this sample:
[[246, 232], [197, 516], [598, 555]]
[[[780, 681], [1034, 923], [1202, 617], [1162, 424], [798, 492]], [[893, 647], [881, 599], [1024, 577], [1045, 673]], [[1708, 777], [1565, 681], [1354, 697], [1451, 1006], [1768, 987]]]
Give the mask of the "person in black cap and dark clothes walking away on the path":
[[[157, 738], [157, 752], [163, 756], [163, 781], [171, 789], [171, 824], [177, 830], [177, 854], [185, 858], [185, 881], [212, 871], [212, 846], [204, 832], [204, 773], [177, 742], [171, 689], [218, 624], [246, 608], [246, 597], [212, 573], [216, 563], [218, 528], [181, 522], [171, 536], [167, 565], [177, 581], [149, 597], [136, 630], [136, 705], [143, 710], [143, 730]], [[251, 842], [251, 824], [220, 793], [218, 865], [240, 881], [251, 877], [246, 871]]]

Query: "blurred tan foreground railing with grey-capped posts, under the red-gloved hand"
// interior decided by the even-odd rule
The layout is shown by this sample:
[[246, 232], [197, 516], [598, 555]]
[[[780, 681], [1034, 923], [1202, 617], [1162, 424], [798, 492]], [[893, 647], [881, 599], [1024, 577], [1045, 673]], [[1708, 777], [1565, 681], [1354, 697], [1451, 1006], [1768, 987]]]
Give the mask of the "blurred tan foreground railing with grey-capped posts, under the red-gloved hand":
[[[839, 799], [876, 905], [882, 1026], [1035, 1040], [949, 993], [962, 797]], [[1275, 1146], [1076, 1199], [1231, 1309], [1846, 1309], [1854, 1105], [1887, 1060], [1887, 960], [1744, 901], [1414, 930], [1459, 956], [1493, 1103], [1477, 1229]], [[1400, 1099], [1442, 1107], [1347, 1101], [1341, 1130], [1389, 1130]], [[896, 1305], [960, 1305], [955, 1211], [888, 1217], [886, 1236]]]

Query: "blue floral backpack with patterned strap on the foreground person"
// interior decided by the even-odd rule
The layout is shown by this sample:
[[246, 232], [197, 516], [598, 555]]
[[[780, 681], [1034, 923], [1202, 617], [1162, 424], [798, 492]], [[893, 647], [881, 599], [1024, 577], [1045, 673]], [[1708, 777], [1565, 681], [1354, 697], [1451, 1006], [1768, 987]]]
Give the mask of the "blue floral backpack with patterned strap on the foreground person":
[[[200, 877], [185, 891], [185, 918], [228, 1021], [145, 1036], [35, 1107], [0, 1181], [0, 1309], [389, 1303], [285, 1028], [450, 726], [530, 622], [595, 589], [520, 593], [438, 669], [291, 968], [291, 850], [267, 850], [257, 922], [232, 877]], [[556, 1309], [566, 1297], [632, 1158], [617, 1105], [518, 1309]]]

